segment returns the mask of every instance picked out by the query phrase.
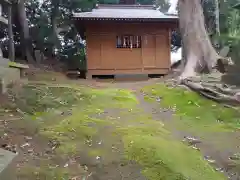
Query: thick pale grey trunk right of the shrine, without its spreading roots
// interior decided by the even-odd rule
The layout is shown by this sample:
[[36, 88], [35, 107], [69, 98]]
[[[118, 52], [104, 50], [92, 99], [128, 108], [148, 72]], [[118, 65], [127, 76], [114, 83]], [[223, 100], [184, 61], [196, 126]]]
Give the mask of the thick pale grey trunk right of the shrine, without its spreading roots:
[[205, 29], [200, 0], [179, 0], [179, 21], [186, 60], [181, 79], [211, 72], [219, 56]]

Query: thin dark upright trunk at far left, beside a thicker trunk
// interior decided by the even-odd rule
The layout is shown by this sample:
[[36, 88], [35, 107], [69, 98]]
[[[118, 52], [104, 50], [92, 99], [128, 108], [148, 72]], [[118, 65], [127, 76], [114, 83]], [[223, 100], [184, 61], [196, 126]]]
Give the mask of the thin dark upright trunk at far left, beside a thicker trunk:
[[8, 37], [9, 37], [9, 59], [11, 61], [15, 60], [15, 49], [14, 49], [14, 39], [13, 39], [13, 28], [12, 28], [12, 5], [8, 6]]

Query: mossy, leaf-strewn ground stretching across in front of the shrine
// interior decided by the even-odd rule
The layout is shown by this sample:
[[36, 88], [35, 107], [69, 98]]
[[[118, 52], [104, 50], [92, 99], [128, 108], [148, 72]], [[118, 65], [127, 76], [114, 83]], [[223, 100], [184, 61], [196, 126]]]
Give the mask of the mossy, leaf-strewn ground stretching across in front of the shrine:
[[12, 89], [2, 107], [0, 142], [20, 155], [0, 179], [221, 180], [239, 172], [238, 112], [159, 80], [40, 80]]

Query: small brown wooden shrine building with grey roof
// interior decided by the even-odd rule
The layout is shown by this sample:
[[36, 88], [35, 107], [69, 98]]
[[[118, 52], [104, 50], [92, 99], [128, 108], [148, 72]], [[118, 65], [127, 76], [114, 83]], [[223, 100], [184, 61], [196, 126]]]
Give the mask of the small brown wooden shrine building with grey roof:
[[74, 19], [86, 39], [88, 77], [168, 73], [177, 16], [165, 15], [152, 5], [137, 5], [135, 0], [121, 0], [74, 13]]

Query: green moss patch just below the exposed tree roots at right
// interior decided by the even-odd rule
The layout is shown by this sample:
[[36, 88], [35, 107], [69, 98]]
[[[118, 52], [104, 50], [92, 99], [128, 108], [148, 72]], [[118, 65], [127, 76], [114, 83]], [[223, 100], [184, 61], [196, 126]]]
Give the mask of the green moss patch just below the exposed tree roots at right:
[[229, 131], [240, 128], [240, 112], [200, 97], [180, 87], [155, 84], [143, 89], [146, 99], [161, 98], [161, 106], [175, 109], [179, 126], [202, 131]]

